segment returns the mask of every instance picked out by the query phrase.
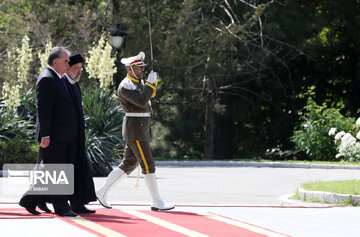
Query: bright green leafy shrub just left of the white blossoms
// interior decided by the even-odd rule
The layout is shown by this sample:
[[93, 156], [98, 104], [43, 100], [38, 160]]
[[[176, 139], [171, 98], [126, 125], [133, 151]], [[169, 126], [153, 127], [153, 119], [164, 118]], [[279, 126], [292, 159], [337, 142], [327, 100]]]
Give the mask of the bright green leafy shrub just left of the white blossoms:
[[337, 160], [334, 139], [328, 135], [330, 128], [353, 131], [355, 126], [354, 118], [344, 117], [339, 109], [327, 108], [325, 104], [317, 105], [311, 97], [307, 100], [301, 120], [291, 140], [295, 147], [304, 151], [311, 160]]

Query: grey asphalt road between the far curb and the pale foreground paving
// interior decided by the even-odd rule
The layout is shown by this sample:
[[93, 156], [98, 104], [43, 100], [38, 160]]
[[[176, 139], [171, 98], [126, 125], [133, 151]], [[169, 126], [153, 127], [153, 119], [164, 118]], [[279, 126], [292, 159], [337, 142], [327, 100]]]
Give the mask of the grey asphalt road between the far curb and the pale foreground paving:
[[[135, 190], [137, 170], [110, 193], [110, 202], [144, 202], [142, 180]], [[160, 192], [177, 204], [280, 205], [279, 197], [302, 183], [360, 178], [360, 170], [241, 167], [158, 167]], [[99, 187], [104, 178], [95, 178]]]

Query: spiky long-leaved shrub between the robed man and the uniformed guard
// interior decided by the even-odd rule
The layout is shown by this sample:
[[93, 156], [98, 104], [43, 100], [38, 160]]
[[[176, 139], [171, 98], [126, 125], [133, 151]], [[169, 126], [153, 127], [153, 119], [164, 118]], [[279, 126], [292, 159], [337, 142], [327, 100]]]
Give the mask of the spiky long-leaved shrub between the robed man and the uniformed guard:
[[106, 176], [111, 163], [121, 159], [125, 142], [121, 138], [123, 112], [117, 101], [101, 89], [83, 95], [86, 153], [94, 176]]

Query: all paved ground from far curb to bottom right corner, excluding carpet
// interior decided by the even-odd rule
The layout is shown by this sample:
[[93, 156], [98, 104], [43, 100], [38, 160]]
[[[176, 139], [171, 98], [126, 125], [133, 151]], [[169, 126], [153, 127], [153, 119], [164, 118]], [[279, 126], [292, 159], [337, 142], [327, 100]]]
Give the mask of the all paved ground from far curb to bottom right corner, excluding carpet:
[[[110, 203], [144, 204], [149, 195], [140, 180], [135, 189], [137, 170], [110, 194]], [[271, 208], [243, 207], [286, 205], [279, 199], [302, 183], [315, 180], [358, 179], [360, 170], [245, 168], [245, 167], [158, 167], [160, 193], [179, 206], [177, 211], [207, 211], [251, 223], [290, 236], [360, 236], [359, 208]], [[99, 187], [105, 178], [95, 178]], [[1, 185], [1, 179], [0, 179]], [[1, 192], [1, 189], [0, 189]], [[21, 195], [21, 193], [20, 193]], [[0, 193], [0, 201], [15, 201], [19, 195]], [[198, 206], [193, 206], [194, 204]], [[214, 207], [200, 207], [200, 205]], [[239, 206], [239, 207], [216, 207]], [[307, 205], [301, 203], [301, 205]], [[116, 206], [143, 209], [143, 206]], [[24, 220], [22, 220], [24, 221]], [[44, 220], [45, 221], [45, 220]], [[0, 229], [11, 228], [0, 222]], [[27, 222], [25, 222], [27, 223]]]

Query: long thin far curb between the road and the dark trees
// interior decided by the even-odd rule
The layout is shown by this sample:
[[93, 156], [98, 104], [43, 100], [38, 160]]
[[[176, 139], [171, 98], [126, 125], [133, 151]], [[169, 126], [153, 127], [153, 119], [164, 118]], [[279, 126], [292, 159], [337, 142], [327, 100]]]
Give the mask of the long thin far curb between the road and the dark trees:
[[354, 169], [360, 170], [358, 165], [257, 162], [257, 161], [155, 161], [156, 166], [177, 167], [270, 167], [270, 168], [302, 168], [302, 169]]

